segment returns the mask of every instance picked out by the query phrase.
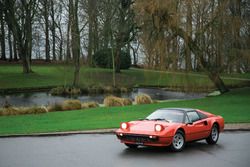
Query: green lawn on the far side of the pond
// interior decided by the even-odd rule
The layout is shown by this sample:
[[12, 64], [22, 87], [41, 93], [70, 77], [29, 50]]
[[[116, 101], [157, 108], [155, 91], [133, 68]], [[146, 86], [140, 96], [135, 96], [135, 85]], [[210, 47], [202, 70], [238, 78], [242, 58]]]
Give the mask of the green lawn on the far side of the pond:
[[[63, 65], [33, 65], [34, 73], [23, 74], [20, 65], [0, 66], [0, 89], [9, 88], [39, 88], [48, 86], [71, 85], [73, 68]], [[225, 75], [223, 79], [228, 86], [246, 82], [237, 78], [249, 79], [249, 74]], [[116, 74], [118, 86], [166, 86], [184, 87], [188, 90], [213, 88], [213, 83], [202, 73], [160, 72], [153, 70], [130, 69]], [[249, 81], [248, 81], [249, 82]], [[103, 86], [112, 84], [112, 70], [101, 68], [81, 67], [80, 85]]]

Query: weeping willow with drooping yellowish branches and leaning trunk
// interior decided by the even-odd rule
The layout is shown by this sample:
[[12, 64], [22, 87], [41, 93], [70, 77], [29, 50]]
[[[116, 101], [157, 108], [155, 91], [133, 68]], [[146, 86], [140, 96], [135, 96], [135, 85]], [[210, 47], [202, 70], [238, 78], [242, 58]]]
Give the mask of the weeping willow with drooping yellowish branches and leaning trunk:
[[[239, 33], [239, 27], [243, 27], [239, 12], [241, 1], [237, 2], [137, 0], [135, 10], [146, 64], [150, 68], [171, 69], [176, 68], [179, 60], [184, 62], [187, 71], [201, 67], [221, 93], [227, 92], [219, 74], [235, 59], [230, 59], [234, 52], [226, 48], [231, 46], [237, 51], [234, 54], [237, 60], [242, 58], [239, 54], [243, 41]], [[226, 41], [228, 38], [233, 42]]]

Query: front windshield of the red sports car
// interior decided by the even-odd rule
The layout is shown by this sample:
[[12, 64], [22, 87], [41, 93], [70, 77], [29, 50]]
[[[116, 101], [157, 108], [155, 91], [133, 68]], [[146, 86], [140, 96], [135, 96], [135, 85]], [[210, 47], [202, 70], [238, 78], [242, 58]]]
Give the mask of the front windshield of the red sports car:
[[184, 113], [178, 110], [156, 110], [150, 114], [147, 120], [165, 120], [167, 122], [183, 122]]

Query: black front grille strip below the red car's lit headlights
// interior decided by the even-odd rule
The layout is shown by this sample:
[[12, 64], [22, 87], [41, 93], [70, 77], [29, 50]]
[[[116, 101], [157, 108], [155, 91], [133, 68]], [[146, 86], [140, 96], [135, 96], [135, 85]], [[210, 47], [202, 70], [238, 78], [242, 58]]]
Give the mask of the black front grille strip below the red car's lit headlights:
[[117, 134], [117, 137], [121, 140], [126, 141], [133, 141], [138, 143], [145, 143], [145, 142], [156, 142], [158, 141], [157, 136], [149, 136], [149, 135], [136, 135], [136, 134]]

